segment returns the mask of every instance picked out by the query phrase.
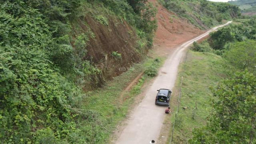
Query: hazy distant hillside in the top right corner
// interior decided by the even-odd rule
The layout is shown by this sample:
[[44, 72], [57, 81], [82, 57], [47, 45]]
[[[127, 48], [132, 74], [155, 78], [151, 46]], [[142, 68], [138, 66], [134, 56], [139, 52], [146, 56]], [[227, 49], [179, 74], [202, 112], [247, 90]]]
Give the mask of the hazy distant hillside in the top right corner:
[[238, 6], [242, 10], [243, 15], [256, 14], [256, 0], [236, 0], [228, 3]]

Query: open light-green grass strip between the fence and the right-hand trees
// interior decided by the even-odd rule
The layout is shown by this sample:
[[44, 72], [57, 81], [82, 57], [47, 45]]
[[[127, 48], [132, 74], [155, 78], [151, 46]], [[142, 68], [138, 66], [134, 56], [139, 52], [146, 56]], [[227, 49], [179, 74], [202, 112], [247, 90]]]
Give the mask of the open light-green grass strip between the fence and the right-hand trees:
[[[174, 131], [174, 144], [186, 144], [192, 136], [193, 128], [199, 128], [206, 124], [207, 116], [211, 110], [210, 99], [213, 98], [209, 87], [216, 86], [225, 77], [222, 64], [222, 58], [216, 54], [189, 51], [183, 76], [180, 110]], [[179, 75], [173, 90], [173, 98], [177, 99], [183, 66], [184, 64], [180, 65]], [[196, 102], [197, 110], [194, 111], [194, 118], [192, 118], [192, 110], [196, 107]], [[182, 107], [188, 108], [184, 110]], [[176, 109], [177, 104], [174, 112]], [[173, 122], [174, 114], [168, 118]]]

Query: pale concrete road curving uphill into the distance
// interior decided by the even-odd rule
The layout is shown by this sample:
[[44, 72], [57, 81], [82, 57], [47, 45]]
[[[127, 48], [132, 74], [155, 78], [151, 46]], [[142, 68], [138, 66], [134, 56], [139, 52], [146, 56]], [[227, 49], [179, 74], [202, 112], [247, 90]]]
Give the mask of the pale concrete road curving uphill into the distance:
[[174, 52], [169, 54], [164, 65], [160, 68], [153, 84], [148, 89], [146, 96], [142, 102], [134, 108], [130, 120], [127, 121], [127, 125], [116, 140], [116, 144], [148, 144], [150, 140], [158, 139], [164, 122], [164, 109], [166, 107], [155, 105], [156, 90], [160, 88], [171, 90], [174, 87], [178, 65], [185, 52], [184, 50], [186, 50], [190, 44], [207, 36], [217, 28], [226, 26], [231, 22], [232, 21], [229, 21], [224, 25], [212, 28], [208, 32], [178, 46]]

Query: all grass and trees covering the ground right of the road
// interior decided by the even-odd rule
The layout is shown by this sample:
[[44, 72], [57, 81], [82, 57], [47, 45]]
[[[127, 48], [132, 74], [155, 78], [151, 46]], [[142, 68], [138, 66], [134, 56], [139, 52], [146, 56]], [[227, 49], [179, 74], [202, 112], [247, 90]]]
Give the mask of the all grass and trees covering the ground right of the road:
[[173, 143], [256, 143], [255, 26], [254, 19], [239, 19], [193, 43]]

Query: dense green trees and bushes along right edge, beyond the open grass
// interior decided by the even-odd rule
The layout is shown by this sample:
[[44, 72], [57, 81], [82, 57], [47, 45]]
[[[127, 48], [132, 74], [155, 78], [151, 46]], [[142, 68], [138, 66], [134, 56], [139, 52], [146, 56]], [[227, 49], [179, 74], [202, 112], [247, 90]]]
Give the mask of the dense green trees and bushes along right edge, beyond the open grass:
[[193, 50], [200, 51], [209, 42], [212, 52], [224, 58], [226, 64], [222, 67], [229, 78], [212, 88], [212, 113], [206, 126], [194, 130], [192, 144], [256, 142], [255, 20], [235, 21], [211, 33], [208, 41], [193, 46]]

